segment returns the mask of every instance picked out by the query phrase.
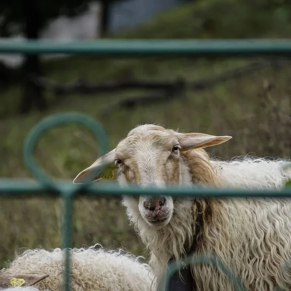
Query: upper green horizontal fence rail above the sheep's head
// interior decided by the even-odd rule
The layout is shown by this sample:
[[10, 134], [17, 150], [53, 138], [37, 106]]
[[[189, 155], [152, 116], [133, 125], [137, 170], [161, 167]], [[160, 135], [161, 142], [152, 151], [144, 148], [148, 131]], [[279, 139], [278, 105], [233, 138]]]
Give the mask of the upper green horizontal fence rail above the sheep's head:
[[0, 53], [66, 53], [108, 56], [291, 55], [290, 39], [99, 39], [94, 41], [0, 40]]

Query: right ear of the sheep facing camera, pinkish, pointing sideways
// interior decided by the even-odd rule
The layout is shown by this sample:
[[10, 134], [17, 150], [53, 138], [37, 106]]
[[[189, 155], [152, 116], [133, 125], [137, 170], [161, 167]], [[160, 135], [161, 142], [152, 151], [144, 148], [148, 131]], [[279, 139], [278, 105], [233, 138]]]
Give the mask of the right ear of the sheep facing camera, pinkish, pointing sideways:
[[228, 139], [232, 138], [230, 136], [216, 137], [199, 133], [177, 133], [177, 137], [181, 146], [181, 151], [211, 147], [226, 142]]

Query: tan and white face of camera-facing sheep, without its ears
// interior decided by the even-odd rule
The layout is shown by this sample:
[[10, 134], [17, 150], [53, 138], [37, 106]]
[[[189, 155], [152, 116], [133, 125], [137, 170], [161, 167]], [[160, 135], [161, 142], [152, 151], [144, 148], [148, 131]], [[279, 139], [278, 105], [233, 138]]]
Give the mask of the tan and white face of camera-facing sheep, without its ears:
[[[178, 138], [172, 130], [159, 126], [133, 129], [115, 149], [119, 183], [158, 188], [179, 183], [179, 150]], [[140, 196], [135, 203], [142, 218], [150, 225], [161, 226], [171, 220], [174, 205], [170, 196]]]

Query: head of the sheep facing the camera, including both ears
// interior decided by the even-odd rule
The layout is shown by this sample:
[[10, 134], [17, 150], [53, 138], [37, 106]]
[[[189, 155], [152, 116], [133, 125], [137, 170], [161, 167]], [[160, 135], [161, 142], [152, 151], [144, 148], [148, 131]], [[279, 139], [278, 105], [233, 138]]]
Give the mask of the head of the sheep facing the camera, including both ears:
[[[107, 169], [116, 170], [120, 185], [135, 183], [142, 187], [165, 187], [169, 184], [191, 182], [190, 173], [183, 169], [185, 154], [218, 145], [230, 138], [201, 133], [178, 133], [153, 124], [140, 125], [132, 129], [114, 150], [81, 171], [74, 183], [98, 181], [100, 176], [93, 177], [90, 181], [86, 181], [86, 178], [92, 171], [104, 165]], [[172, 197], [140, 196], [124, 199], [134, 201], [141, 216], [150, 225], [161, 226], [171, 220], [174, 211]]]

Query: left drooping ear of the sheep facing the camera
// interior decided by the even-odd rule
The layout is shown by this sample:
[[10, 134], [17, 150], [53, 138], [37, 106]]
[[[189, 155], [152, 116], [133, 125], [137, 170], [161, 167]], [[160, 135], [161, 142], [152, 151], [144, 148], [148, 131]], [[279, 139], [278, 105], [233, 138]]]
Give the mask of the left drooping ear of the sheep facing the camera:
[[[114, 153], [115, 149], [99, 157], [90, 167], [81, 171], [76, 176], [73, 183], [85, 184], [98, 181], [100, 179], [114, 179], [114, 172], [116, 169], [116, 166], [114, 165]], [[95, 176], [93, 172], [94, 171], [98, 172], [98, 169], [102, 167], [104, 167], [104, 169], [100, 173], [98, 173], [98, 175]]]

